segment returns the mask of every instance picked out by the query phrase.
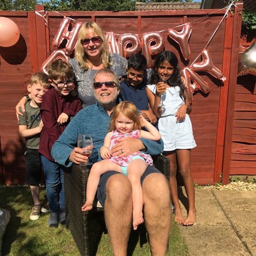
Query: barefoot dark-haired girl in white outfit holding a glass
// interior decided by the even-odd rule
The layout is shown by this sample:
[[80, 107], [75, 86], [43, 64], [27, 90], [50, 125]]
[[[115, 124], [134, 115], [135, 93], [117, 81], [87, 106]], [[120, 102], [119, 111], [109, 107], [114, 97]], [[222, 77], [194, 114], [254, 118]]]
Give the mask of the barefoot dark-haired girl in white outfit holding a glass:
[[[191, 104], [180, 76], [178, 59], [173, 52], [163, 51], [155, 59], [146, 92], [150, 107], [158, 120], [158, 128], [164, 142], [163, 154], [170, 158], [170, 191], [175, 211], [175, 221], [185, 226], [194, 224], [194, 181], [190, 171], [190, 150], [196, 147], [188, 113]], [[162, 94], [162, 100], [161, 98]], [[159, 106], [163, 103], [162, 106]], [[177, 160], [177, 162], [176, 162]], [[180, 170], [188, 196], [188, 216], [181, 213], [178, 200], [176, 169]]]

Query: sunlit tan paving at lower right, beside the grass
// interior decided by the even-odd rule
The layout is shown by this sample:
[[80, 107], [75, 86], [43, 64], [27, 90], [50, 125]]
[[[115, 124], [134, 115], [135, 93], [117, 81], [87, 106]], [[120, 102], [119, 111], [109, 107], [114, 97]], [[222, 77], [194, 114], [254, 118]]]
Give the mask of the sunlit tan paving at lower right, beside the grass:
[[[249, 193], [252, 196], [250, 198], [244, 192], [252, 191], [195, 189], [196, 223], [191, 227], [180, 226], [181, 235], [183, 235], [188, 245], [188, 255], [256, 256], [255, 215], [254, 224], [251, 224], [250, 217], [245, 217], [245, 213], [247, 215], [255, 214], [253, 200], [256, 202], [256, 193]], [[181, 198], [181, 202], [184, 203], [184, 201], [186, 206], [186, 200]], [[247, 207], [246, 204], [249, 206]], [[183, 214], [186, 216], [186, 210], [182, 203], [181, 206]], [[245, 211], [245, 209], [247, 210]], [[229, 214], [227, 214], [227, 211]], [[251, 232], [248, 232], [249, 226], [251, 226]]]

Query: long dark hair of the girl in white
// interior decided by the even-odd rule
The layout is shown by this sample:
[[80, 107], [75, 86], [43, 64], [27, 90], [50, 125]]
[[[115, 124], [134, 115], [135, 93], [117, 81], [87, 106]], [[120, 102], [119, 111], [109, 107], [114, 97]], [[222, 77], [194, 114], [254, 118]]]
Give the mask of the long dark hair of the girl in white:
[[159, 66], [165, 61], [170, 63], [170, 65], [173, 66], [173, 68], [174, 68], [173, 75], [171, 76], [171, 78], [169, 78], [167, 80], [167, 84], [169, 86], [173, 86], [173, 87], [179, 86], [180, 87], [180, 97], [181, 97], [181, 99], [184, 99], [184, 101], [185, 101], [185, 95], [184, 95], [185, 86], [183, 85], [183, 81], [181, 80], [180, 66], [178, 64], [178, 58], [176, 57], [175, 53], [173, 53], [173, 52], [163, 51], [163, 52], [159, 53], [159, 55], [155, 59], [152, 73], [150, 74], [149, 84], [157, 85], [157, 83], [160, 80], [160, 78], [157, 74], [157, 70], [158, 70]]

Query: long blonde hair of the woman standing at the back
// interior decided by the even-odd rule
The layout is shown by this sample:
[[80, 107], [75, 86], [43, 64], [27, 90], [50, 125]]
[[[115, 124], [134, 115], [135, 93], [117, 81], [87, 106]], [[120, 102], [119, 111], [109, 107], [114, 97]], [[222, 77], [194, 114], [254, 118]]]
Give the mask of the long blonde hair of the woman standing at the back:
[[81, 26], [76, 42], [75, 59], [81, 68], [88, 70], [89, 61], [87, 59], [81, 40], [88, 38], [89, 29], [93, 29], [96, 35], [101, 37], [101, 62], [103, 63], [104, 68], [108, 68], [111, 66], [111, 62], [109, 60], [109, 44], [107, 43], [107, 39], [103, 30], [99, 27], [98, 24], [96, 24], [96, 22], [93, 21], [85, 22], [85, 24]]

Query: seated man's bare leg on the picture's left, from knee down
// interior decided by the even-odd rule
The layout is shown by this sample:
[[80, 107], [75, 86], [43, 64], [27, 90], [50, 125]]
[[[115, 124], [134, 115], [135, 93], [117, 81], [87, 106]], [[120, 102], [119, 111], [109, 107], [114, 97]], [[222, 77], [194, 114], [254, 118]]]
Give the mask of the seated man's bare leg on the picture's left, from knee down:
[[126, 256], [132, 225], [132, 186], [126, 176], [112, 175], [107, 181], [104, 211], [113, 254]]

